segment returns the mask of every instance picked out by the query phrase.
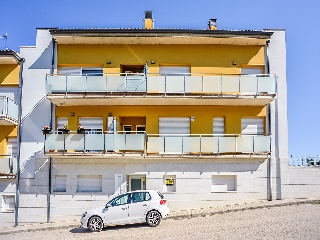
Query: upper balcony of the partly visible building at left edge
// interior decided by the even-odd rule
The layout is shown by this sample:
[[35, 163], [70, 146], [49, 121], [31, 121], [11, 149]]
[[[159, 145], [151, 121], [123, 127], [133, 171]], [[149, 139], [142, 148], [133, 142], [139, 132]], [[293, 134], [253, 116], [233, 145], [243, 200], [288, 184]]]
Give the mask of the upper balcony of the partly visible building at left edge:
[[0, 96], [0, 125], [18, 125], [18, 104]]

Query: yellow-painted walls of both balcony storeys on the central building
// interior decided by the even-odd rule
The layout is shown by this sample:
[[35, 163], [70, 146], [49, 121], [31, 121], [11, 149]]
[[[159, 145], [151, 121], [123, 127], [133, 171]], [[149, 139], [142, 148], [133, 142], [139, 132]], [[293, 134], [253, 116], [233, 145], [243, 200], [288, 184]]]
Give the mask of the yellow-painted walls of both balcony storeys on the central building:
[[[58, 45], [58, 68], [67, 66], [103, 67], [106, 74], [120, 73], [122, 65], [144, 65], [148, 74], [159, 73], [159, 66], [190, 66], [191, 74], [241, 74], [242, 67], [264, 69], [264, 46], [235, 45]], [[109, 64], [107, 64], [107, 62]], [[154, 64], [150, 64], [154, 61]], [[236, 64], [234, 64], [236, 63]], [[147, 100], [146, 100], [147, 101]], [[75, 116], [70, 116], [74, 112]], [[212, 134], [213, 117], [225, 118], [225, 133], [240, 134], [241, 118], [266, 119], [266, 108], [256, 106], [73, 106], [56, 108], [56, 117], [68, 117], [69, 128], [76, 130], [79, 117], [102, 117], [104, 130], [108, 113], [123, 125], [143, 125], [148, 134], [159, 133], [159, 117], [194, 117], [191, 134]], [[140, 117], [131, 119], [128, 117]], [[122, 121], [124, 121], [122, 123]], [[266, 130], [265, 130], [266, 131]]]

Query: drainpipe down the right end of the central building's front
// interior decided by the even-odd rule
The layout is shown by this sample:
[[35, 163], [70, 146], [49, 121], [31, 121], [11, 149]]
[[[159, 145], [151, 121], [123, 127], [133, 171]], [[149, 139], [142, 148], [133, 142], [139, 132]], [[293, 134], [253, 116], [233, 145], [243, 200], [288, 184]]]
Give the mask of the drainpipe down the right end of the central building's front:
[[[266, 55], [266, 73], [270, 74], [270, 65], [269, 65], [269, 43], [270, 40], [267, 41], [266, 47], [265, 47], [265, 55]], [[270, 104], [266, 106], [267, 110], [267, 134], [271, 135], [271, 111], [270, 111]], [[270, 138], [271, 141], [271, 138]], [[267, 160], [267, 200], [272, 201], [272, 181], [271, 181], [271, 155], [272, 155], [272, 144], [270, 144], [270, 151], [271, 154], [268, 155], [268, 160]]]

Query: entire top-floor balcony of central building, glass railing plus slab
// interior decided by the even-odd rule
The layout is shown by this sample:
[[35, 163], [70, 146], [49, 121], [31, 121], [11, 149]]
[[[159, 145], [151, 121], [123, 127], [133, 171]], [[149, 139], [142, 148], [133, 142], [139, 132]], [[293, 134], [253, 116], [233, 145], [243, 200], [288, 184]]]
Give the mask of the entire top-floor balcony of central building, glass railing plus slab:
[[265, 106], [276, 97], [274, 75], [48, 75], [56, 105]]

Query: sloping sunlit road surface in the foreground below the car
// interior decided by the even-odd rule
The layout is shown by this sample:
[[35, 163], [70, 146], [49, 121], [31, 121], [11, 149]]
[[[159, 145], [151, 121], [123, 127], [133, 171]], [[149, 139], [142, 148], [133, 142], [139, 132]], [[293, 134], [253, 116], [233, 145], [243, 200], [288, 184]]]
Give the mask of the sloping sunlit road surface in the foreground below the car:
[[320, 240], [320, 204], [303, 204], [167, 219], [158, 227], [146, 224], [105, 228], [91, 233], [69, 228], [2, 235], [5, 239], [312, 239]]

